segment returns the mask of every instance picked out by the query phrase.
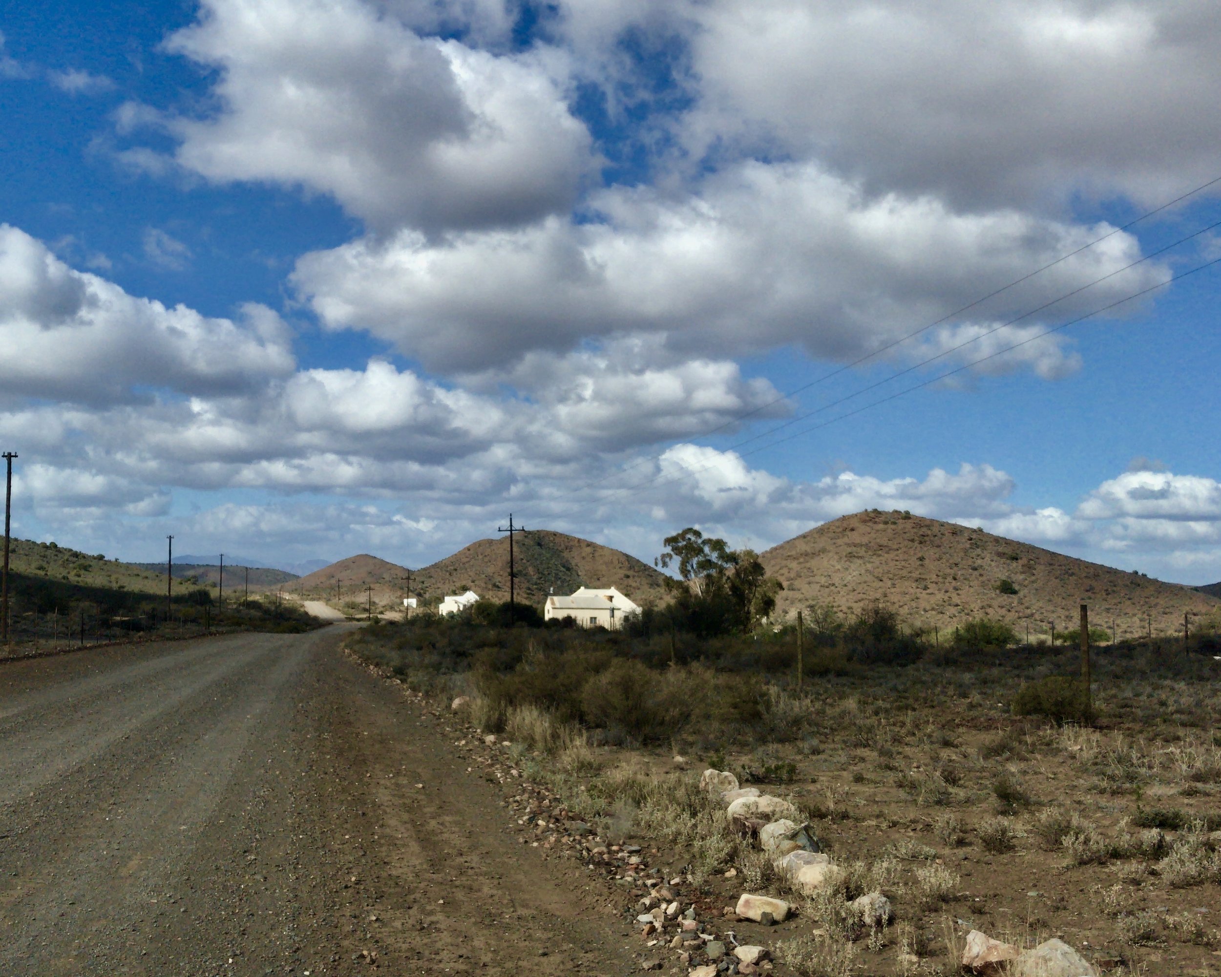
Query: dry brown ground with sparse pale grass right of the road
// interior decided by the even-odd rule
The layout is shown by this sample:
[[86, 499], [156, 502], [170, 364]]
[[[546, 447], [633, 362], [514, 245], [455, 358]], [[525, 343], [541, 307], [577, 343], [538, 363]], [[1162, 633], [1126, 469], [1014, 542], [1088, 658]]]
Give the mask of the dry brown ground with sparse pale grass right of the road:
[[[675, 895], [707, 934], [767, 946], [777, 975], [958, 973], [971, 929], [1021, 946], [1059, 937], [1100, 973], [1221, 972], [1221, 662], [1210, 655], [1171, 642], [1099, 651], [1093, 727], [1011, 712], [1024, 681], [1071, 673], [1076, 658], [1062, 651], [847, 669], [807, 677], [801, 691], [791, 674], [772, 675], [755, 686], [762, 701], [748, 723], [729, 716], [725, 696], [757, 677], [647, 668], [635, 699], [617, 700], [656, 710], [634, 738], [596, 708], [601, 724], [562, 721], [553, 683], [554, 707], [526, 701], [531, 680], [567, 674], [562, 656], [586, 652], [557, 657], [538, 639], [518, 659], [502, 648], [496, 670], [486, 650], [468, 669], [440, 646], [413, 652], [407, 634], [366, 629], [349, 644], [438, 703], [469, 697], [454, 713], [455, 749], [476, 769], [503, 765], [518, 828], [563, 852], [576, 877], [618, 887], [637, 933], [657, 883], [679, 879]], [[617, 668], [574, 695], [587, 706], [591, 688], [618, 695], [607, 678]], [[684, 710], [667, 699], [674, 689]], [[698, 789], [706, 767], [796, 804], [838, 881], [795, 894]], [[871, 928], [849, 903], [874, 890], [894, 917]], [[726, 917], [744, 892], [788, 899], [796, 915], [775, 927]], [[672, 948], [675, 935], [669, 922], [641, 935], [639, 964], [686, 973], [709, 962], [690, 944]]]

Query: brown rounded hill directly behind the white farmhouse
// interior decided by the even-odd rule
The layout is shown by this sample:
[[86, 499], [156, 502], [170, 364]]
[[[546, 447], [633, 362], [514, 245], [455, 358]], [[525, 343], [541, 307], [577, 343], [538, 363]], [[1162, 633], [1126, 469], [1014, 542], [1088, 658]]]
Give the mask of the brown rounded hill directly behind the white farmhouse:
[[[514, 542], [516, 598], [542, 606], [547, 595], [579, 586], [618, 587], [641, 606], [665, 600], [664, 574], [619, 550], [551, 530], [532, 530]], [[418, 583], [416, 583], [418, 581]], [[446, 594], [474, 590], [480, 597], [509, 598], [509, 541], [479, 540], [413, 574], [411, 591], [427, 603]]]

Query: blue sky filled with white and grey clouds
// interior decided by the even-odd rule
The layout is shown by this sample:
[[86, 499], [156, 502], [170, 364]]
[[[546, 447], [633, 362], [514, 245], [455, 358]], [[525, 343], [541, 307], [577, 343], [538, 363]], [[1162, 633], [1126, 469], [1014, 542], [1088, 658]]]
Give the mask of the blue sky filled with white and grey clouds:
[[1221, 579], [1221, 266], [1039, 338], [1221, 255], [1112, 274], [1221, 221], [1221, 184], [768, 405], [1221, 176], [1214, 20], [2, 5], [18, 531], [421, 565], [512, 509], [648, 559], [879, 507]]

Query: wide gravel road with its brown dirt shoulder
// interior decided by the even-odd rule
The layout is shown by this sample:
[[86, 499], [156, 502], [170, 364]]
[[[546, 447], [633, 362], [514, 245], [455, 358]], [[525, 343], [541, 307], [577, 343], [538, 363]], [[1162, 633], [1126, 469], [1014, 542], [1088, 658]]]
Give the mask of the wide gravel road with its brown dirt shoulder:
[[0, 666], [0, 975], [629, 972], [344, 630]]

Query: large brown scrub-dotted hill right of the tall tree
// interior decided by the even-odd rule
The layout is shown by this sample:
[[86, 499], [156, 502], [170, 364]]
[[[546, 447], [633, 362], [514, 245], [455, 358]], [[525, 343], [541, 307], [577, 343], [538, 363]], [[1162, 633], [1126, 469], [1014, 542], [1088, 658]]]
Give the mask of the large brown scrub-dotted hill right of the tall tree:
[[[908, 623], [947, 630], [974, 617], [1007, 622], [1024, 637], [1090, 624], [1118, 636], [1182, 634], [1183, 612], [1221, 601], [1198, 590], [1054, 553], [954, 523], [899, 512], [845, 515], [761, 554], [785, 590], [778, 612], [811, 603], [853, 613], [880, 602]], [[1009, 581], [1016, 592], [1002, 592]]]

